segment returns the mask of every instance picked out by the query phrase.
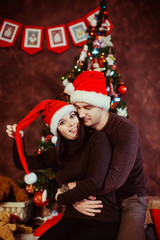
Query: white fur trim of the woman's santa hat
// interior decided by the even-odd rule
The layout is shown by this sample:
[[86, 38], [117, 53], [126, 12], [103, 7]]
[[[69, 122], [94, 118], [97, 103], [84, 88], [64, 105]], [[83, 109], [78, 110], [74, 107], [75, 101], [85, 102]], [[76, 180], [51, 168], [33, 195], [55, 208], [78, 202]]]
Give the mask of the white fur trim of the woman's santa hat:
[[68, 104], [65, 105], [64, 107], [60, 108], [57, 112], [55, 112], [55, 114], [53, 115], [52, 119], [51, 119], [51, 124], [50, 124], [50, 129], [51, 132], [53, 133], [53, 135], [57, 136], [57, 126], [58, 126], [58, 122], [59, 120], [66, 115], [69, 112], [77, 112], [75, 106]]

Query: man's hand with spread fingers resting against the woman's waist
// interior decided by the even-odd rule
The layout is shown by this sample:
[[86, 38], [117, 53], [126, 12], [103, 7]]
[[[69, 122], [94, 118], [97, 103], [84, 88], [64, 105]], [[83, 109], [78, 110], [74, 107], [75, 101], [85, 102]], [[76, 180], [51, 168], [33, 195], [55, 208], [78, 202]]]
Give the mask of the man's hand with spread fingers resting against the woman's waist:
[[96, 200], [96, 197], [90, 196], [88, 199], [83, 199], [80, 202], [73, 204], [73, 207], [80, 213], [94, 217], [95, 213], [100, 213], [103, 208], [102, 201]]

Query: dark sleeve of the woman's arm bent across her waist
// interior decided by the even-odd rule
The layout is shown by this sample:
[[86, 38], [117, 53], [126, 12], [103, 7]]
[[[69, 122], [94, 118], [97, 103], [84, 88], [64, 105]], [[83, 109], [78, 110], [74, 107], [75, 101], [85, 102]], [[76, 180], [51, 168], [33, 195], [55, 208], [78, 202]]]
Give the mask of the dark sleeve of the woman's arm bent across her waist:
[[58, 196], [58, 202], [63, 205], [72, 205], [91, 195], [96, 195], [103, 187], [112, 155], [110, 142], [104, 133], [99, 132], [92, 136], [89, 147], [86, 177], [75, 188]]

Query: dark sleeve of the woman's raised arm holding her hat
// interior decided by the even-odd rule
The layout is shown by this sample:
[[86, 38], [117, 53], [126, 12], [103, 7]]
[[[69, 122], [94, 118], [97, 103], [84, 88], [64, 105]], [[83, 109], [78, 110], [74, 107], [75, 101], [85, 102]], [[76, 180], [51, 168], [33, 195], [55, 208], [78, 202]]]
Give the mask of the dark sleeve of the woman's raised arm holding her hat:
[[[38, 170], [38, 169], [45, 169], [45, 168], [52, 168], [54, 170], [56, 168], [57, 158], [56, 158], [56, 149], [54, 146], [53, 148], [50, 148], [42, 152], [41, 154], [28, 156], [25, 152], [25, 144], [23, 139], [23, 152], [24, 152], [24, 156], [26, 158], [29, 170]], [[13, 160], [17, 168], [23, 169], [15, 140], [13, 143]]]

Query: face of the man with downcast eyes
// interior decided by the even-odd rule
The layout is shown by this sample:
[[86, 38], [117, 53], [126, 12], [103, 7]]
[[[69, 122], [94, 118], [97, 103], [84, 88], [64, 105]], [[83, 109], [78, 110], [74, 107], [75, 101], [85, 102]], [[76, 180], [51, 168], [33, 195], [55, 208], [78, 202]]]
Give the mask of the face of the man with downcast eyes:
[[74, 105], [77, 108], [79, 117], [83, 119], [84, 125], [97, 129], [103, 110], [83, 102], [76, 102]]

